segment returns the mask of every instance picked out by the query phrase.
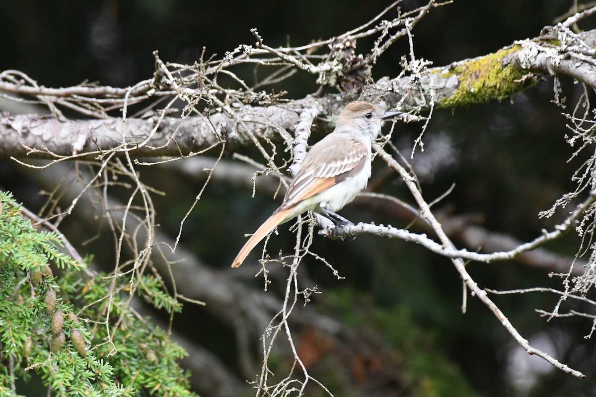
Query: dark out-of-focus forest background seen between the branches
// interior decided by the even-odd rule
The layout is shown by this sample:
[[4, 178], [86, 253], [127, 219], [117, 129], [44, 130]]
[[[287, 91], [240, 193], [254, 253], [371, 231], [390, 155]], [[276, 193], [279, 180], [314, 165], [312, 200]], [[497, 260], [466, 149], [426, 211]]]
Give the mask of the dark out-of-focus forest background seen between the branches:
[[[154, 50], [164, 61], [193, 64], [203, 47], [207, 58], [222, 57], [240, 44], [252, 45], [253, 27], [269, 46], [303, 45], [360, 26], [389, 4], [379, 0], [2, 1], [0, 70], [21, 70], [47, 87], [83, 81], [126, 87], [152, 76]], [[403, 1], [401, 7], [409, 10], [422, 4]], [[543, 27], [554, 24], [573, 4], [571, 0], [455, 0], [431, 11], [415, 27], [415, 55], [436, 66], [485, 55], [514, 40], [539, 36]], [[582, 23], [582, 29], [594, 27], [594, 18]], [[366, 53], [370, 45], [359, 42], [358, 52]], [[397, 76], [399, 60], [407, 51], [405, 41], [396, 43], [377, 61], [375, 78]], [[561, 82], [567, 103], [575, 104], [581, 90], [570, 79]], [[575, 189], [571, 177], [585, 158], [567, 162], [575, 149], [564, 139], [566, 119], [563, 110], [551, 102], [552, 87], [552, 79], [545, 78], [510, 101], [434, 112], [424, 135], [425, 151], [418, 151], [412, 164], [429, 201], [455, 184], [451, 194], [436, 205], [439, 214], [522, 241], [540, 235], [543, 228], [551, 229], [561, 219], [557, 215], [539, 219], [538, 212]], [[293, 99], [315, 92], [317, 86], [311, 76], [297, 74], [275, 89], [287, 90], [287, 98]], [[15, 104], [2, 105], [0, 110], [40, 111]], [[409, 157], [421, 124], [396, 128], [394, 142]], [[246, 149], [244, 154], [253, 153]], [[387, 174], [379, 161], [375, 167], [371, 180], [375, 191], [413, 201], [398, 176]], [[192, 171], [185, 173], [177, 167], [143, 170], [145, 182], [166, 192], [154, 200], [160, 230], [169, 236], [178, 234], [182, 217], [203, 186], [198, 171], [193, 176]], [[38, 211], [45, 202], [38, 192], [49, 187], [14, 161], [2, 159], [0, 189], [11, 190], [17, 201]], [[126, 192], [121, 194], [126, 198]], [[237, 273], [228, 269], [244, 242], [244, 233], [253, 232], [280, 202], [266, 189], [257, 191], [254, 199], [251, 195], [252, 183], [237, 186], [225, 183], [225, 178], [210, 183], [185, 223], [181, 244], [218, 274], [262, 290], [262, 280], [253, 277], [259, 268], [256, 253], [253, 264], [247, 262]], [[355, 222], [397, 227], [406, 227], [412, 220], [407, 211], [370, 199], [359, 199], [342, 214]], [[65, 221], [62, 228], [79, 246], [97, 233], [97, 227], [75, 218]], [[293, 248], [293, 235], [287, 227], [281, 229], [269, 243], [270, 253], [279, 249], [289, 253]], [[458, 246], [465, 246], [457, 233], [452, 237]], [[91, 242], [80, 252], [95, 254], [99, 267], [109, 264], [113, 251], [103, 249], [111, 243], [109, 238], [106, 241]], [[578, 237], [570, 233], [545, 248], [570, 264], [578, 247]], [[322, 292], [311, 297], [309, 307], [334, 318], [353, 334], [337, 337], [319, 324], [303, 321], [294, 336], [299, 339], [301, 357], [308, 360], [309, 373], [336, 396], [595, 395], [596, 348], [594, 340], [584, 338], [591, 321], [572, 317], [547, 323], [535, 311], [552, 310], [557, 296], [526, 293], [494, 299], [530, 343], [582, 371], [587, 379], [575, 379], [527, 356], [476, 299], [468, 299], [467, 312], [462, 314], [461, 280], [451, 262], [420, 246], [372, 236], [336, 242], [315, 235], [311, 251], [330, 261], [345, 278], [338, 280], [319, 261], [305, 260], [302, 282]], [[549, 277], [552, 270], [528, 261], [468, 265], [480, 286], [499, 290], [560, 289], [560, 277]], [[272, 271], [268, 292], [272, 296], [283, 293], [286, 271]], [[196, 277], [201, 274], [197, 272]], [[167, 321], [166, 313], [155, 314]], [[239, 339], [217, 313], [187, 304], [174, 327], [219, 360], [231, 376], [229, 382], [237, 385], [238, 395], [253, 393], [244, 380], [254, 378], [238, 360]], [[258, 337], [250, 341], [255, 356], [260, 349]], [[211, 376], [191, 364], [188, 368], [194, 379]], [[224, 395], [216, 387], [197, 387], [203, 387], [197, 391], [204, 396]], [[309, 393], [322, 395], [316, 387]]]

